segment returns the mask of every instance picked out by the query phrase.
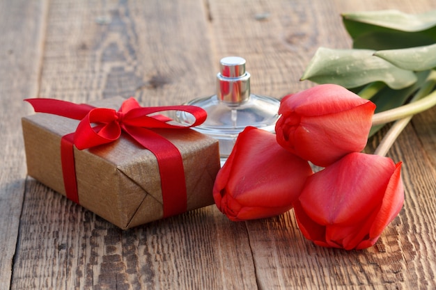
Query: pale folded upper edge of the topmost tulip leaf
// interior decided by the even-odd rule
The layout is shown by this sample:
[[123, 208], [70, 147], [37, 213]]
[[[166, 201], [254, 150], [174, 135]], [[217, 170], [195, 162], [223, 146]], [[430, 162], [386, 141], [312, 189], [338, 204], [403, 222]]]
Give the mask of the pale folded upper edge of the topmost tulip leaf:
[[378, 10], [343, 13], [342, 17], [352, 22], [362, 22], [398, 31], [423, 31], [436, 26], [436, 10], [416, 15], [398, 10]]

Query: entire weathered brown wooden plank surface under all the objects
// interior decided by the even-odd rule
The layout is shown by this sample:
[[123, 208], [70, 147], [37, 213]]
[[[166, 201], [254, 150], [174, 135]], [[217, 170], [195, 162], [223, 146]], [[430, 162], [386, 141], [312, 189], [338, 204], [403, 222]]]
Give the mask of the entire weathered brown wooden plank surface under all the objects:
[[24, 97], [180, 104], [214, 93], [229, 55], [281, 97], [312, 86], [298, 79], [318, 47], [350, 47], [339, 13], [386, 8], [434, 3], [0, 0], [0, 289], [435, 289], [436, 109], [389, 152], [405, 207], [368, 250], [313, 245], [292, 211], [232, 223], [211, 206], [123, 232], [26, 178]]

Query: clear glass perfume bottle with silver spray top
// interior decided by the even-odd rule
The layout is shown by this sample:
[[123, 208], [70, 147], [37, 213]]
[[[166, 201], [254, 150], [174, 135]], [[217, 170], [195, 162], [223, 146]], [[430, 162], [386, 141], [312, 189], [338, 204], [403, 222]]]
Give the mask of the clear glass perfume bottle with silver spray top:
[[[238, 134], [247, 126], [274, 133], [279, 118], [280, 101], [273, 97], [254, 95], [250, 92], [250, 74], [245, 71], [245, 60], [228, 56], [220, 61], [217, 74], [217, 95], [193, 99], [187, 105], [199, 106], [208, 118], [193, 129], [219, 140], [221, 166], [231, 154]], [[191, 124], [192, 115], [178, 111], [176, 120]]]

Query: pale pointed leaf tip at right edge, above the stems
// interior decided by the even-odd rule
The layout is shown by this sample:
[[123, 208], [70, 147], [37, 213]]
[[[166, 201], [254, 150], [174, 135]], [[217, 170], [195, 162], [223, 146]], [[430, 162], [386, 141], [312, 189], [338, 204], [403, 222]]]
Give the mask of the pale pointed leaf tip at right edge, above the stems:
[[419, 72], [436, 67], [436, 44], [407, 49], [376, 51], [374, 55], [389, 61], [389, 63], [403, 70]]

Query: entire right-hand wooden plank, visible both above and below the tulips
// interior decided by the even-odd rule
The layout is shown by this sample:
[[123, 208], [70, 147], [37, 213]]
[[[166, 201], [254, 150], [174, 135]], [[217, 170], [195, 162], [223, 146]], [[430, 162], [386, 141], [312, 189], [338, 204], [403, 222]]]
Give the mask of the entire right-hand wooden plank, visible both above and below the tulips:
[[[247, 56], [253, 90], [279, 97], [309, 85], [297, 80], [318, 47], [350, 47], [340, 13], [396, 6], [410, 13], [431, 8], [429, 1], [311, 1], [310, 8], [299, 1], [238, 1], [231, 6], [213, 1], [210, 14], [218, 52]], [[256, 13], [270, 17], [259, 22]], [[373, 248], [346, 252], [316, 247], [300, 234], [293, 211], [247, 222], [259, 289], [435, 288], [431, 245], [436, 227], [428, 222], [435, 216], [434, 115], [417, 116], [419, 135], [409, 126], [389, 153], [394, 161], [404, 162], [406, 203]], [[370, 152], [381, 137], [371, 140]], [[410, 232], [411, 227], [420, 228], [419, 234]]]

